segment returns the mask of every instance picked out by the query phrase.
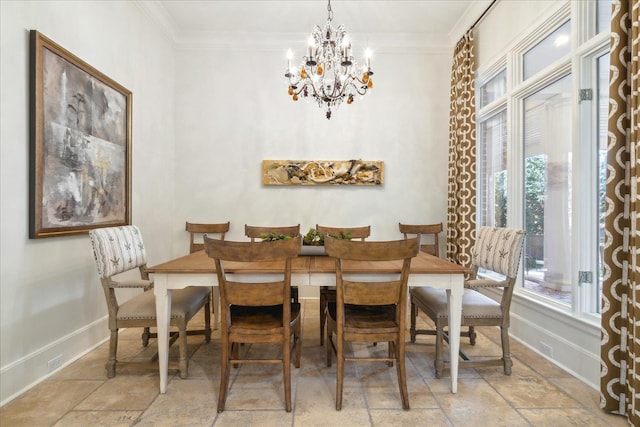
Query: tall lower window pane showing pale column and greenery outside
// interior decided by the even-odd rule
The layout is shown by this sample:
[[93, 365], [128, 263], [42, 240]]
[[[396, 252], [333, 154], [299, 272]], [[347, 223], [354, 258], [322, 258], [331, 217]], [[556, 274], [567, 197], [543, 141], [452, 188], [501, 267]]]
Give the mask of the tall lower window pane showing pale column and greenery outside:
[[524, 288], [571, 303], [571, 76], [524, 99]]

